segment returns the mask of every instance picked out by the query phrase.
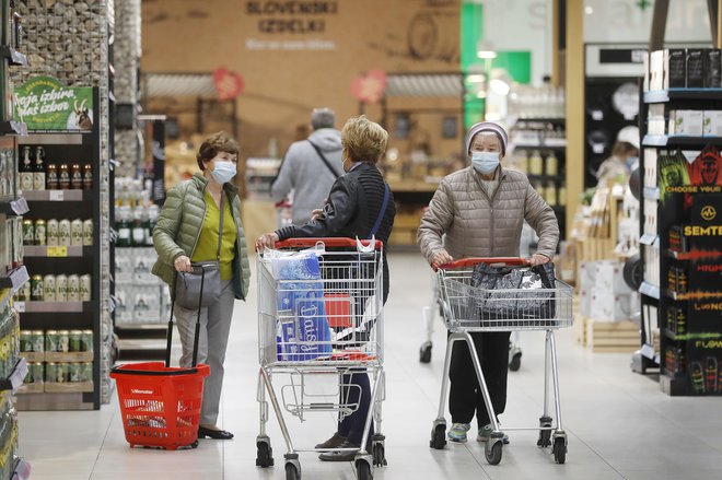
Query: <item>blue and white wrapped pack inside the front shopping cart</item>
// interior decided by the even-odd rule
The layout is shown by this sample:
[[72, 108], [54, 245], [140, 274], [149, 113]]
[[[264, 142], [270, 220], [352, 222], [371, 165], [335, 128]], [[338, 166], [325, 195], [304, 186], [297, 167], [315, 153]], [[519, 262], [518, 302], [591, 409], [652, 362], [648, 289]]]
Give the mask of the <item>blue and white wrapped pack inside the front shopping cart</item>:
[[318, 257], [313, 251], [271, 259], [278, 284], [278, 359], [306, 361], [331, 353]]

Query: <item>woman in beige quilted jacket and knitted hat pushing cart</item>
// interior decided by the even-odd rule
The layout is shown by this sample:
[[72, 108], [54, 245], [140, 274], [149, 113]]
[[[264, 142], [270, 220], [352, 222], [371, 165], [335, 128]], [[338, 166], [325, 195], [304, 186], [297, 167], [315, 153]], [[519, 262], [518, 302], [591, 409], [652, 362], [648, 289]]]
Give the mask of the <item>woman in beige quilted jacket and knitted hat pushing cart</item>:
[[[551, 207], [529, 185], [526, 175], [501, 165], [506, 132], [493, 122], [474, 125], [466, 137], [471, 166], [446, 176], [421, 219], [417, 242], [429, 264], [440, 266], [466, 257], [519, 257], [524, 220], [539, 243], [532, 265], [549, 261], [559, 242], [559, 224]], [[471, 333], [494, 412], [506, 405], [509, 332]], [[452, 352], [449, 407], [453, 442], [466, 442], [476, 411], [477, 441], [486, 442], [490, 419], [465, 342]], [[506, 438], [504, 438], [506, 441]]]

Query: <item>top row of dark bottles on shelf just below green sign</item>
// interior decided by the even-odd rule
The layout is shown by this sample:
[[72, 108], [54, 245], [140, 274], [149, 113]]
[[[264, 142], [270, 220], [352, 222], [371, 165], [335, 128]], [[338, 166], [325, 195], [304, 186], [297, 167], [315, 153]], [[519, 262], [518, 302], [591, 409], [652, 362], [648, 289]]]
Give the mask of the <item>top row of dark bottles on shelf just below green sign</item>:
[[[34, 153], [33, 153], [34, 152]], [[25, 145], [22, 150], [20, 189], [26, 190], [91, 190], [93, 164], [82, 162], [50, 163], [40, 145]]]

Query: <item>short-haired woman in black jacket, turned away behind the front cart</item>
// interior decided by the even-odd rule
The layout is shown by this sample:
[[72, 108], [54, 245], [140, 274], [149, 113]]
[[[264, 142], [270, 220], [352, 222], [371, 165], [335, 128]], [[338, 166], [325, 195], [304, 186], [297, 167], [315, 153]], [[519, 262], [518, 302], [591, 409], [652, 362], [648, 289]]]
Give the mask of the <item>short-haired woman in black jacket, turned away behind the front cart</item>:
[[[323, 211], [305, 225], [290, 225], [268, 233], [256, 242], [256, 249], [273, 247], [278, 241], [292, 237], [350, 237], [369, 238], [376, 219], [381, 223], [375, 238], [384, 244], [394, 226], [396, 206], [394, 197], [384, 182], [376, 163], [386, 152], [388, 133], [379, 124], [365, 116], [350, 118], [341, 131], [342, 159], [346, 175], [339, 177], [328, 194]], [[384, 197], [386, 207], [382, 211]], [[383, 257], [383, 302], [388, 297], [388, 265], [386, 251]], [[338, 425], [337, 432], [316, 448], [359, 448], [364, 423], [371, 408], [371, 385], [365, 372], [343, 375], [342, 385], [350, 385], [341, 393], [345, 403], [359, 403], [357, 411], [347, 415]], [[357, 387], [358, 386], [358, 387]], [[373, 422], [369, 438], [373, 435]], [[366, 450], [370, 452], [366, 447]], [[356, 452], [328, 452], [321, 455], [326, 461], [351, 461]]]

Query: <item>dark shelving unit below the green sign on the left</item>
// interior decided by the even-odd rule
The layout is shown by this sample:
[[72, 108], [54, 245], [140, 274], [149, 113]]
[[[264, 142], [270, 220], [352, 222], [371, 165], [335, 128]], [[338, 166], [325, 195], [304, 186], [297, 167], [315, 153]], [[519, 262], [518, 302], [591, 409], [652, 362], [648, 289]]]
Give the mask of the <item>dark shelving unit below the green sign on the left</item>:
[[[16, 302], [21, 311], [21, 328], [24, 331], [43, 332], [45, 342], [31, 352], [22, 353], [33, 363], [34, 383], [28, 385], [18, 397], [21, 410], [88, 410], [101, 406], [101, 365], [97, 352], [101, 351], [101, 309], [106, 300], [101, 298], [101, 140], [100, 140], [100, 98], [98, 89], [92, 89], [92, 128], [89, 130], [38, 130], [20, 140], [20, 150], [24, 147], [37, 152], [42, 148], [47, 165], [81, 164], [92, 166], [92, 186], [88, 185], [90, 172], [83, 173], [86, 183], [83, 187], [75, 182], [63, 183], [59, 175], [58, 187], [46, 189], [53, 185], [35, 185], [40, 187], [23, 191], [31, 206], [31, 212], [25, 216], [35, 225], [35, 245], [25, 246], [25, 265], [31, 277], [68, 276], [68, 296], [51, 301], [47, 281], [43, 280], [40, 292], [45, 297], [38, 297], [32, 290], [31, 297], [24, 296], [24, 302]], [[37, 156], [37, 154], [36, 154]], [[49, 167], [46, 175], [49, 175]], [[59, 169], [65, 169], [59, 167]], [[75, 178], [77, 179], [77, 178]], [[74, 187], [74, 188], [73, 188]], [[90, 187], [90, 188], [89, 188]], [[61, 189], [65, 188], [65, 189]], [[82, 245], [73, 241], [73, 245], [62, 245], [62, 225], [59, 229], [59, 245], [50, 241], [48, 224], [45, 238], [40, 237], [37, 221], [57, 219], [92, 223], [92, 236], [83, 238]], [[62, 219], [62, 220], [61, 220]], [[74, 231], [73, 231], [74, 232]], [[70, 276], [90, 276], [85, 288], [89, 288], [89, 298], [82, 301], [71, 297]], [[59, 282], [59, 281], [58, 281]], [[82, 280], [81, 280], [82, 283]], [[33, 286], [37, 281], [33, 282]], [[58, 289], [60, 285], [58, 284]], [[50, 301], [46, 300], [49, 298]], [[83, 348], [74, 346], [72, 331], [88, 332], [82, 340]], [[63, 339], [56, 347], [54, 335], [62, 337], [62, 331], [70, 331], [69, 348], [62, 347]], [[92, 331], [92, 333], [90, 333]], [[44, 343], [44, 344], [43, 344]], [[94, 353], [95, 352], [95, 353]], [[74, 374], [73, 368], [84, 367], [82, 374]], [[92, 365], [92, 366], [91, 366]], [[67, 372], [65, 372], [67, 370]], [[44, 374], [43, 374], [44, 372]]]

